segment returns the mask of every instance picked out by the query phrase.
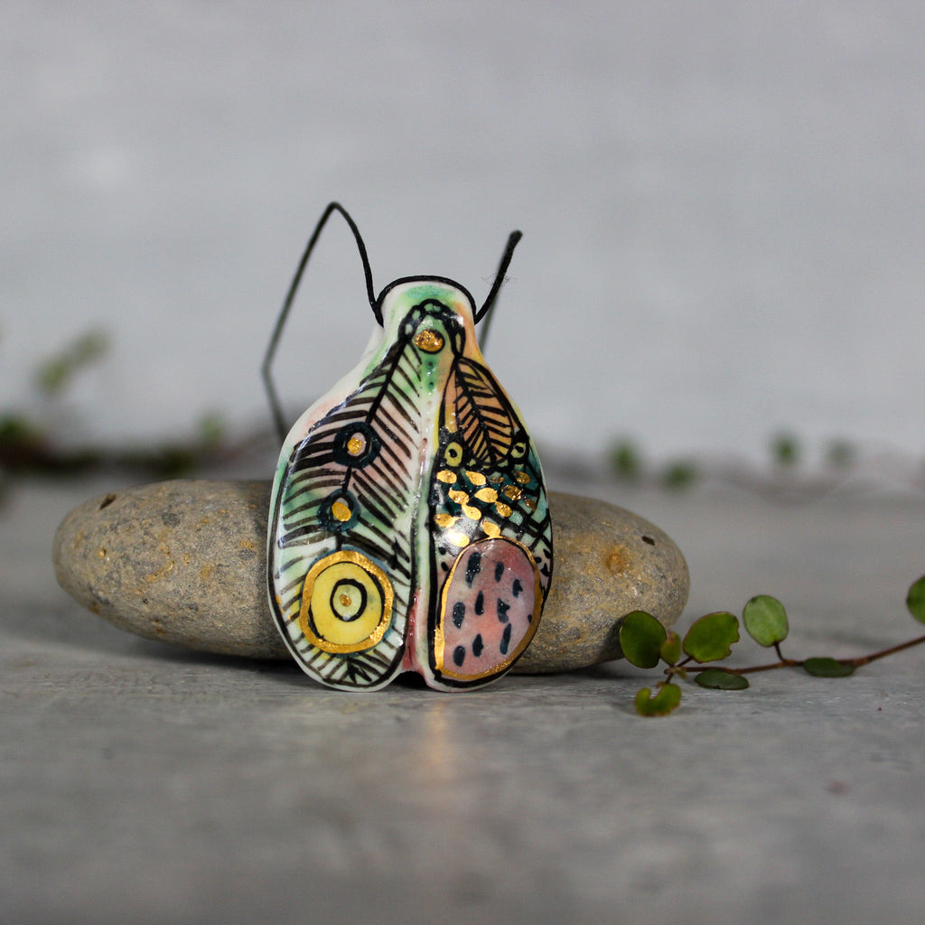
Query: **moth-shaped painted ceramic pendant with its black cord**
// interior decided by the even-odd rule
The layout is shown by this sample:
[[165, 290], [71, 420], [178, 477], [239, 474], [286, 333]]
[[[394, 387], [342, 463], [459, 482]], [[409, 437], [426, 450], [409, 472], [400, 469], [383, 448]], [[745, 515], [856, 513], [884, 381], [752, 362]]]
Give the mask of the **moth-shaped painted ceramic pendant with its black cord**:
[[268, 530], [270, 607], [302, 669], [340, 690], [400, 672], [453, 691], [507, 672], [536, 633], [552, 573], [547, 493], [523, 420], [488, 369], [481, 309], [442, 277], [376, 298], [363, 240], [331, 203], [293, 280], [265, 362], [327, 218], [364, 260], [379, 327], [360, 363], [285, 438]]

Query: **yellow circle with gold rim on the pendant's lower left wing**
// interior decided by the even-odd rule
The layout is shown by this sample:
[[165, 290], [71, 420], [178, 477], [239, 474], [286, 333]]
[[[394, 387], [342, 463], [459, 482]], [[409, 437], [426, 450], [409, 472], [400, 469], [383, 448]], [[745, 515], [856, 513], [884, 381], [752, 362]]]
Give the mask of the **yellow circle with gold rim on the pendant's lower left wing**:
[[391, 622], [388, 576], [353, 550], [331, 553], [314, 563], [302, 586], [299, 626], [325, 652], [372, 648]]

